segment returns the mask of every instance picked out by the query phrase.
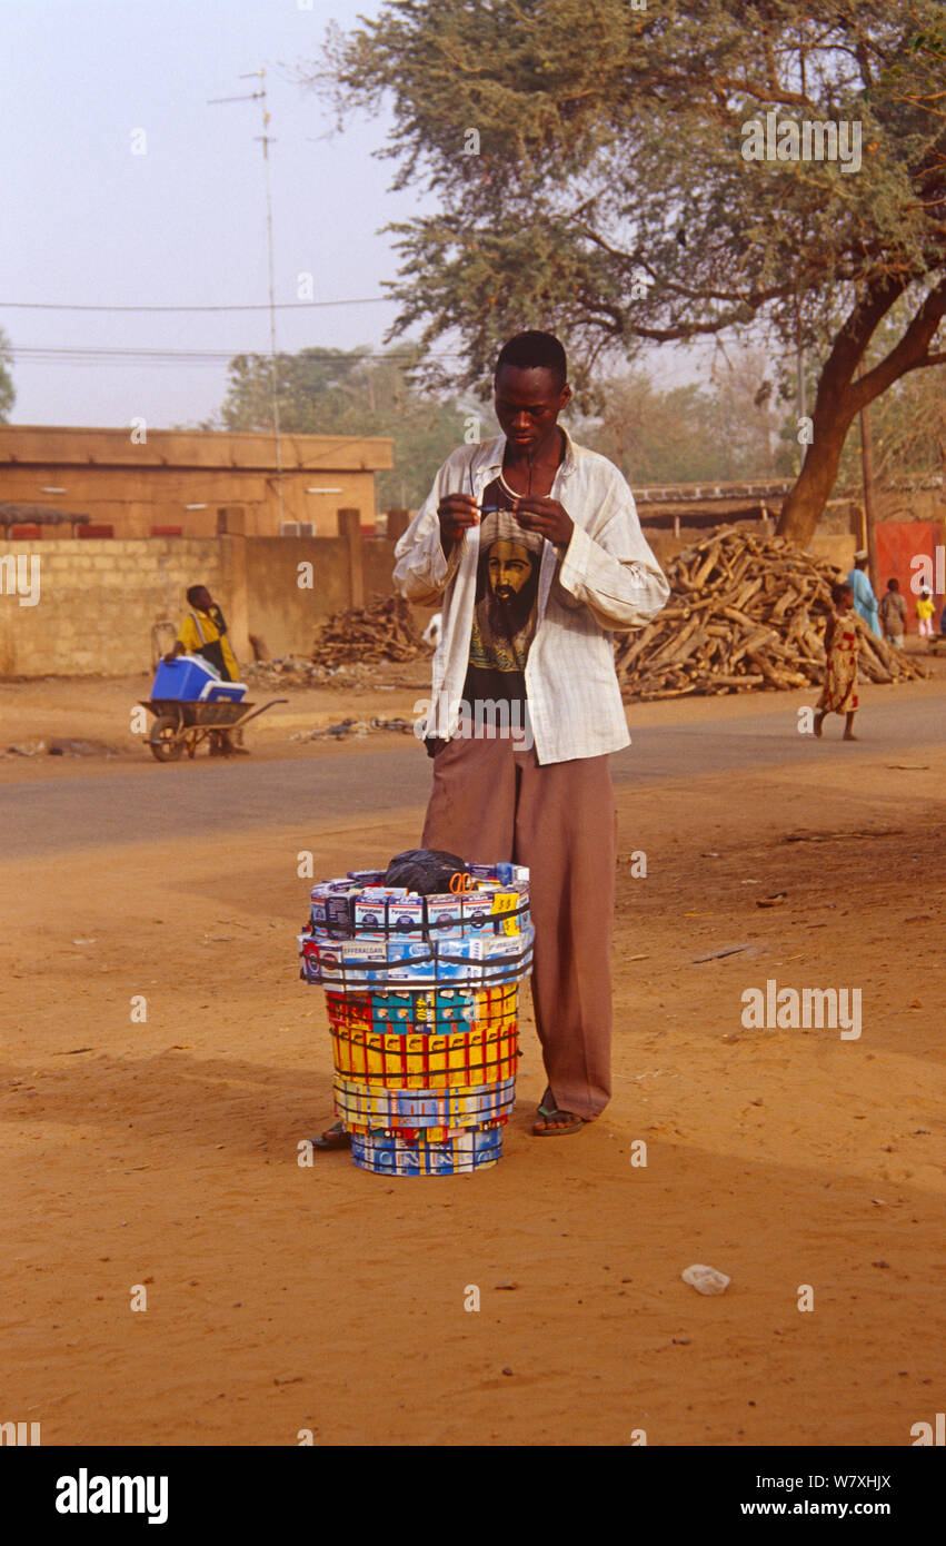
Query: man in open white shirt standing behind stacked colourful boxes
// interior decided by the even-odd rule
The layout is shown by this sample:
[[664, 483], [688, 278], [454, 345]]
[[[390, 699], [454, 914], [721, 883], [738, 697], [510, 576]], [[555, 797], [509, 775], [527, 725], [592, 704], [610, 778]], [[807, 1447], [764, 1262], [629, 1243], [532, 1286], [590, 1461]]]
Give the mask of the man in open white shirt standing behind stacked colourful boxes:
[[[558, 339], [510, 339], [495, 373], [502, 434], [447, 458], [394, 569], [402, 595], [444, 609], [422, 841], [532, 873], [543, 1138], [578, 1132], [611, 1098], [607, 756], [631, 741], [611, 635], [649, 623], [669, 595], [620, 472], [558, 424], [570, 396]], [[473, 734], [456, 734], [461, 703]], [[484, 707], [499, 730], [526, 714], [527, 739], [496, 734]]]

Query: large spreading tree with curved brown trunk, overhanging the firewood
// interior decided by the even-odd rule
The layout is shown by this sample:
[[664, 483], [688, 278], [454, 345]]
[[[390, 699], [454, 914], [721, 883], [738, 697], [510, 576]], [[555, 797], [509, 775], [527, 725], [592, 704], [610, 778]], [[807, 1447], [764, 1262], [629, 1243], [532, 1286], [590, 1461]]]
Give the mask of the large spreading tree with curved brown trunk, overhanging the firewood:
[[340, 121], [393, 100], [394, 187], [427, 186], [441, 212], [391, 227], [388, 337], [459, 335], [465, 383], [522, 326], [561, 331], [586, 382], [702, 335], [819, 356], [781, 519], [805, 543], [858, 411], [946, 360], [943, 5], [645, 6], [388, 0], [329, 34], [309, 79]]

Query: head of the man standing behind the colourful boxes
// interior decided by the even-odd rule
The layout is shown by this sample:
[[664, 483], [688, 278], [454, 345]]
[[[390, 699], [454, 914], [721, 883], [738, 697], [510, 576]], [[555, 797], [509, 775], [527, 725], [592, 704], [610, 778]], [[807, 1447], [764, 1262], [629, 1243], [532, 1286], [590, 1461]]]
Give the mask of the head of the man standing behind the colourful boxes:
[[572, 399], [566, 352], [550, 332], [516, 332], [499, 349], [495, 408], [507, 439], [535, 459], [555, 438]]

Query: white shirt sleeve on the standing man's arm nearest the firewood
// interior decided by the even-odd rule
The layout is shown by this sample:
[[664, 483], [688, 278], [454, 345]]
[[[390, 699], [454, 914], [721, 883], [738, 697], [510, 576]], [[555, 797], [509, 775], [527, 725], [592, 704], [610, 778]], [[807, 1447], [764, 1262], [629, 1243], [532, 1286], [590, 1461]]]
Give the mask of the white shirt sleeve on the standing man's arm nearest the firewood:
[[617, 468], [589, 527], [575, 521], [558, 583], [609, 632], [643, 628], [666, 606], [666, 575], [646, 543], [634, 495]]

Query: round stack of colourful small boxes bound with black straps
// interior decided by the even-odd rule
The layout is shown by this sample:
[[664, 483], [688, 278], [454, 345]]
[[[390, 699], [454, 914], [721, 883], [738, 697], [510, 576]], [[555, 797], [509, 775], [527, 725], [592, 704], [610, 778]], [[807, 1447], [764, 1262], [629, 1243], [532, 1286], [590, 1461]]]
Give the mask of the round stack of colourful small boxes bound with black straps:
[[335, 1113], [383, 1175], [492, 1166], [515, 1102], [529, 872], [470, 866], [471, 889], [414, 897], [379, 870], [312, 889], [300, 976], [325, 988]]

